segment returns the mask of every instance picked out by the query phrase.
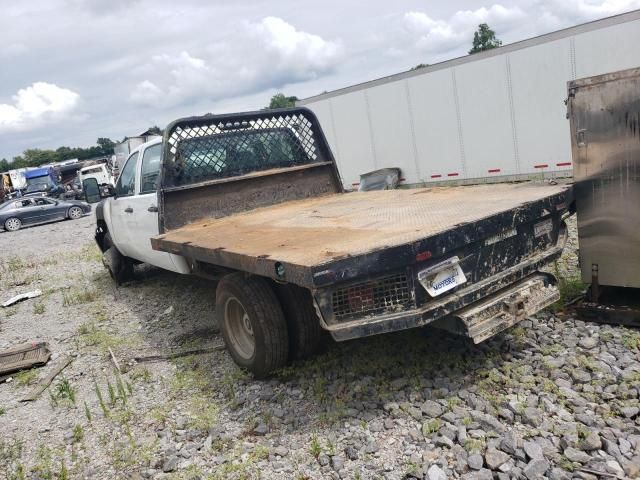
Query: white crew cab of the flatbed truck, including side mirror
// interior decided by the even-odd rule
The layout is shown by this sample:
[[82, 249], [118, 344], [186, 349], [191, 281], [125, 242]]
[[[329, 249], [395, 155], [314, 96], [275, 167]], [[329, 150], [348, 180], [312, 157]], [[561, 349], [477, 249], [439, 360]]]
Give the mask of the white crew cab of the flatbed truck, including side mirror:
[[[149, 263], [177, 273], [190, 273], [184, 257], [151, 248], [149, 239], [158, 235], [158, 175], [162, 137], [140, 145], [126, 158], [120, 176], [96, 209], [96, 239], [110, 254], [110, 273], [117, 282], [130, 276], [134, 263]], [[89, 178], [96, 179], [95, 176]], [[107, 182], [99, 183], [101, 185]], [[83, 186], [86, 183], [83, 182]]]

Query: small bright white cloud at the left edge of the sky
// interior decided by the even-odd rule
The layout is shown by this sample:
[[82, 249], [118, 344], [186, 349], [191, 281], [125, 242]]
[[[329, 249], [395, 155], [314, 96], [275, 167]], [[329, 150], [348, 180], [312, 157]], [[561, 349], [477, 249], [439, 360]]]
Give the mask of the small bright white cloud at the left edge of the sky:
[[35, 82], [18, 90], [14, 104], [0, 104], [0, 131], [31, 130], [72, 112], [80, 96], [52, 83]]

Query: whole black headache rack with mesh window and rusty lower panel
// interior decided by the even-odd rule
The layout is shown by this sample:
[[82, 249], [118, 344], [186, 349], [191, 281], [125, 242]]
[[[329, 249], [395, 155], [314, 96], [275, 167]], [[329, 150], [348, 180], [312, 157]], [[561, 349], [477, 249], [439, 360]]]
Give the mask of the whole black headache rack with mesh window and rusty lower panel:
[[176, 120], [165, 130], [159, 183], [161, 232], [342, 192], [331, 150], [306, 108]]

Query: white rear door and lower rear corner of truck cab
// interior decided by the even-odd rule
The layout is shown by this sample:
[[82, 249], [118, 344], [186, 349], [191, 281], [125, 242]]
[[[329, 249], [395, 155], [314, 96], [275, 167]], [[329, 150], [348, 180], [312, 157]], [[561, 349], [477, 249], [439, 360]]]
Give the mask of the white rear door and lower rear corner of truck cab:
[[158, 175], [162, 143], [146, 147], [142, 161], [138, 162], [137, 193], [131, 198], [132, 218], [135, 222], [135, 238], [131, 245], [132, 257], [165, 270], [189, 273], [190, 269], [183, 257], [151, 248], [151, 237], [158, 235]]

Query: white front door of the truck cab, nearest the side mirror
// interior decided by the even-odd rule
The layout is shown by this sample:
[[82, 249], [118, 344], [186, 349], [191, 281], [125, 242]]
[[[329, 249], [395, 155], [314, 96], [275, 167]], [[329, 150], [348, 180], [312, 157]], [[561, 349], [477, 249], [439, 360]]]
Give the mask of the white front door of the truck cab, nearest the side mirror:
[[122, 174], [118, 178], [115, 198], [110, 199], [111, 228], [109, 234], [123, 255], [140, 260], [135, 256], [134, 243], [137, 233], [133, 217], [137, 166], [138, 152], [134, 152], [127, 159]]

